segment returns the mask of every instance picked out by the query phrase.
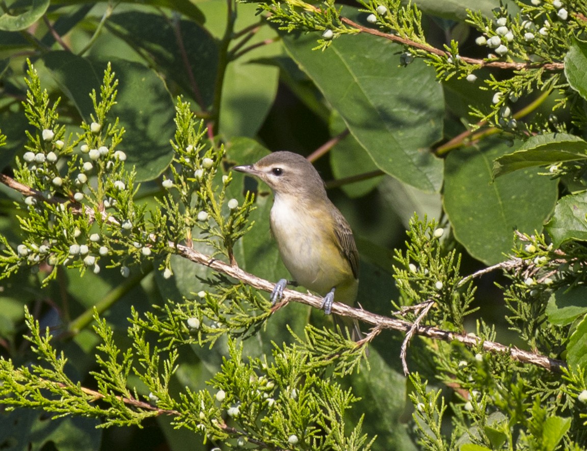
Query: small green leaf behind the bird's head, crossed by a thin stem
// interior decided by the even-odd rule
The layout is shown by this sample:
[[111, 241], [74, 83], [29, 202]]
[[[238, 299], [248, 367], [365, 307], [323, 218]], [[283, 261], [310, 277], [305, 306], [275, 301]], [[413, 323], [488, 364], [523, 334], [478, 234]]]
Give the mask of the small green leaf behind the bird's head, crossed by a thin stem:
[[[346, 124], [338, 113], [333, 112], [330, 119], [332, 135], [335, 136], [344, 130], [346, 130]], [[332, 173], [336, 179], [358, 176], [377, 170], [377, 166], [373, 163], [369, 154], [350, 134], [336, 143], [336, 146], [330, 150], [329, 154], [330, 167], [332, 167]], [[340, 188], [349, 197], [362, 197], [375, 189], [381, 180], [382, 176], [377, 176], [355, 183], [344, 184]]]

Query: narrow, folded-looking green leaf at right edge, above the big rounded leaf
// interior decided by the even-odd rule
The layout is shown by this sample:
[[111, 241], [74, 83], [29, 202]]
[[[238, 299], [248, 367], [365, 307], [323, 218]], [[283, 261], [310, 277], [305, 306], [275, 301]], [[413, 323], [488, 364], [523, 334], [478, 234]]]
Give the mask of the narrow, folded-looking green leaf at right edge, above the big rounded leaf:
[[587, 159], [587, 142], [578, 136], [565, 133], [538, 134], [528, 139], [516, 152], [495, 160], [493, 174], [498, 177], [525, 167], [584, 159]]

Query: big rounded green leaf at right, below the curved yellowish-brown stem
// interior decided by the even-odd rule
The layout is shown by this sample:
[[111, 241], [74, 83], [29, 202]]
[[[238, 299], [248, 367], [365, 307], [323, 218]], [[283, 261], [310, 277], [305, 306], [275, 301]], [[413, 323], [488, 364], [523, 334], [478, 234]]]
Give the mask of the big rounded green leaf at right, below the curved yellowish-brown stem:
[[446, 160], [444, 208], [467, 251], [495, 264], [511, 251], [514, 230], [541, 231], [557, 197], [557, 182], [530, 169], [493, 180], [492, 161], [508, 152], [497, 140], [453, 150]]

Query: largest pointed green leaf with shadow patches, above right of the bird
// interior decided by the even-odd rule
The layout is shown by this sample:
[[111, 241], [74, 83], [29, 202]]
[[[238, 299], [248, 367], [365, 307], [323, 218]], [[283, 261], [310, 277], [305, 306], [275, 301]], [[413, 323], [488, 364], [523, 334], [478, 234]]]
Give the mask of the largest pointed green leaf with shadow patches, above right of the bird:
[[312, 51], [317, 38], [286, 35], [284, 43], [379, 169], [438, 191], [443, 161], [427, 149], [443, 128], [443, 91], [434, 70], [421, 60], [400, 67], [402, 46], [387, 39], [343, 35], [318, 52]]

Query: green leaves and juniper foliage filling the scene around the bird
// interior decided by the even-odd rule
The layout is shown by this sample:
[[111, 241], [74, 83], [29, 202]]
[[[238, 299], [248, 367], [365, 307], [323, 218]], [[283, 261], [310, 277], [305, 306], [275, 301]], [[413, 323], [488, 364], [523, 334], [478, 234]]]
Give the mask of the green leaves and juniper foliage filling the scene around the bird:
[[[555, 2], [423, 0], [417, 9], [391, 0], [350, 5], [2, 2], [0, 130], [6, 139], [0, 140], [0, 167], [36, 183], [33, 175], [26, 179], [30, 165], [23, 155], [50, 145], [39, 138], [49, 124], [58, 133], [55, 139], [64, 141], [63, 154], [78, 159], [72, 161], [87, 160], [80, 150], [85, 142], [116, 147], [126, 161], [114, 169], [104, 163], [96, 178], [114, 193], [110, 185], [114, 175], [120, 176], [129, 192], [110, 195], [143, 222], [129, 238], [116, 231], [119, 227], [98, 221], [101, 233], [119, 240], [112, 241], [119, 247], [110, 248], [112, 259], [99, 272], [86, 271], [91, 265], [81, 259], [70, 261], [65, 238], [52, 267], [48, 262], [38, 267], [10, 251], [27, 236], [17, 215], [25, 210], [34, 219], [34, 208], [21, 194], [0, 187], [5, 237], [0, 344], [3, 362], [14, 364], [2, 370], [4, 403], [18, 398], [18, 383], [8, 383], [14, 382], [11, 374], [22, 371], [15, 368], [36, 362], [31, 341], [45, 362], [53, 351], [63, 352], [63, 368], [42, 374], [72, 382], [69, 395], [83, 398], [84, 392], [73, 388], [77, 382], [103, 394], [112, 389], [110, 398], [80, 404], [82, 416], [50, 421], [55, 412], [75, 409], [15, 403], [28, 408], [0, 413], [0, 447], [584, 449], [587, 410], [578, 396], [586, 389], [587, 365], [582, 334], [587, 8], [581, 1], [564, 2], [569, 15], [562, 19], [562, 6]], [[382, 5], [383, 14], [377, 9]], [[316, 7], [324, 14], [316, 14]], [[369, 14], [377, 15], [376, 23]], [[487, 38], [496, 35], [502, 16], [518, 35], [511, 53], [493, 55], [491, 61], [534, 65], [512, 69], [480, 63], [487, 49], [475, 38], [483, 32]], [[357, 33], [341, 17], [393, 32], [407, 44]], [[521, 38], [530, 18], [537, 24], [550, 21], [542, 38], [540, 27], [532, 28], [538, 36], [534, 43]], [[334, 39], [325, 38], [326, 30]], [[439, 56], [417, 44], [446, 53]], [[27, 75], [27, 60], [38, 78]], [[563, 62], [564, 68], [544, 69]], [[106, 68], [117, 86], [113, 79], [105, 82]], [[34, 80], [40, 85], [35, 87]], [[113, 96], [104, 94], [104, 86], [116, 87], [116, 105], [96, 105]], [[101, 87], [102, 96], [93, 101], [89, 93], [100, 93]], [[36, 95], [35, 102], [43, 99], [46, 109], [41, 102], [26, 110], [27, 92]], [[35, 112], [48, 116], [32, 123]], [[112, 133], [90, 130], [100, 115], [112, 124]], [[198, 128], [200, 119], [207, 131]], [[116, 133], [122, 130], [120, 142]], [[368, 358], [360, 360], [360, 350], [329, 332], [330, 320], [322, 312], [292, 302], [270, 315], [268, 302], [251, 289], [167, 247], [166, 240], [193, 238], [196, 250], [224, 261], [234, 257], [242, 270], [260, 278], [287, 277], [269, 233], [268, 189], [231, 174], [230, 167], [253, 163], [273, 150], [309, 155], [325, 143], [328, 153], [316, 157], [316, 167], [355, 232], [362, 259], [357, 302], [364, 309], [391, 315], [434, 299], [440, 307], [424, 324], [565, 360], [564, 376], [485, 354], [480, 346], [414, 339], [408, 364], [417, 375], [407, 379], [399, 358], [400, 332], [377, 336]], [[188, 151], [188, 144], [195, 151]], [[193, 174], [205, 168], [203, 157], [214, 166], [200, 184]], [[76, 171], [71, 166], [68, 176]], [[59, 194], [73, 203], [73, 175], [65, 179], [70, 190]], [[163, 180], [173, 180], [177, 192], [167, 194]], [[256, 194], [253, 210], [247, 190]], [[86, 196], [87, 205], [99, 206], [100, 198]], [[238, 200], [235, 211], [225, 206], [231, 198]], [[198, 223], [199, 210], [210, 212], [218, 227]], [[126, 218], [129, 211], [120, 207], [117, 214]], [[410, 227], [414, 212], [436, 222], [412, 219]], [[171, 227], [170, 218], [181, 214], [191, 222]], [[69, 220], [73, 233], [82, 223], [73, 215]], [[38, 221], [29, 229], [43, 236], [40, 216]], [[149, 226], [141, 228], [143, 223]], [[89, 236], [95, 230], [86, 226], [83, 233]], [[444, 229], [441, 240], [433, 238], [437, 227]], [[163, 242], [152, 244], [146, 231]], [[133, 249], [137, 237], [143, 241]], [[151, 245], [152, 255], [140, 254]], [[506, 260], [521, 263], [504, 267], [506, 277], [485, 276], [476, 293], [461, 284], [466, 275]], [[226, 307], [227, 300], [236, 307]], [[417, 314], [407, 310], [400, 316], [414, 321]], [[203, 328], [188, 330], [188, 318], [197, 318]], [[308, 323], [315, 328], [307, 329]], [[46, 327], [52, 339], [43, 338]], [[125, 374], [126, 361], [116, 364], [120, 368], [112, 362], [100, 366], [95, 355], [109, 356], [115, 349], [123, 350], [121, 356], [131, 349], [144, 373]], [[336, 349], [340, 361], [329, 360], [320, 349]], [[156, 357], [161, 361], [149, 364]], [[99, 368], [109, 369], [112, 380], [99, 376]], [[161, 373], [151, 374], [157, 368]], [[250, 393], [243, 391], [243, 381], [266, 387], [269, 379], [277, 379], [285, 399], [279, 410], [287, 412], [284, 418], [267, 413], [267, 397], [247, 400]], [[487, 391], [471, 395], [480, 387]], [[40, 393], [50, 389], [41, 386]], [[217, 395], [220, 390], [227, 393], [225, 401]], [[133, 410], [113, 393], [181, 415], [162, 415], [144, 405]], [[53, 395], [69, 399], [58, 390]], [[251, 406], [248, 415], [257, 422], [243, 424], [243, 415], [243, 423], [232, 423], [225, 409], [231, 401], [233, 408]], [[112, 412], [104, 405], [114, 405]], [[241, 432], [218, 428], [218, 418]], [[299, 445], [288, 442], [294, 432]]]

